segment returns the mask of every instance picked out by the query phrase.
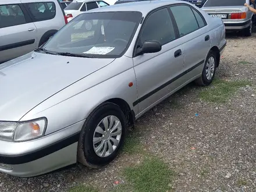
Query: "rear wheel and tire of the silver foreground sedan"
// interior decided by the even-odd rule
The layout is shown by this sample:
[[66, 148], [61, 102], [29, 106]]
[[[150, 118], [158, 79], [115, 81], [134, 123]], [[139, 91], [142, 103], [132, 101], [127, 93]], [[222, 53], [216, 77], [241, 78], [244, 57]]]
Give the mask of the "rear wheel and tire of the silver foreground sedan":
[[204, 69], [202, 70], [202, 75], [200, 78], [195, 80], [195, 83], [198, 86], [209, 86], [214, 80], [215, 72], [216, 72], [216, 53], [214, 51], [209, 51], [207, 55], [207, 59], [204, 63]]

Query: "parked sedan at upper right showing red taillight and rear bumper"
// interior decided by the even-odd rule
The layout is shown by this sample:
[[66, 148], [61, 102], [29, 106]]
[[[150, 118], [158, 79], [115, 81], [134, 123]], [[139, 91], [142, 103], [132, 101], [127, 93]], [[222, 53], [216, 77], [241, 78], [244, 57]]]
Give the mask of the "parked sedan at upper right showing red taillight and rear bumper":
[[[244, 0], [208, 0], [201, 9], [212, 17], [221, 18], [226, 32], [242, 31], [251, 36], [256, 18], [244, 3]], [[255, 8], [255, 2], [251, 6]]]

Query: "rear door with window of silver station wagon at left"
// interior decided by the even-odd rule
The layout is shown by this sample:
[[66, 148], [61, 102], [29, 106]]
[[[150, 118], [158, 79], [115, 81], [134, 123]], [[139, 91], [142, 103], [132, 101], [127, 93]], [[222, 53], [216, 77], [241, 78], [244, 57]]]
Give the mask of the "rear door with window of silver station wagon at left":
[[21, 3], [0, 5], [0, 63], [36, 48], [37, 29]]

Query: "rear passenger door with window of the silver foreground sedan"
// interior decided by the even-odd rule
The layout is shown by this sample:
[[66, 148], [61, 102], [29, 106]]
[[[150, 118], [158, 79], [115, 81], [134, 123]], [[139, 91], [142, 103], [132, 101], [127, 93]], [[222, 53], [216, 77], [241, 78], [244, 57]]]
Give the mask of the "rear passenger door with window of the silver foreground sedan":
[[173, 5], [170, 10], [176, 20], [179, 39], [184, 49], [184, 78], [188, 81], [202, 73], [211, 47], [210, 31], [204, 17], [190, 5]]

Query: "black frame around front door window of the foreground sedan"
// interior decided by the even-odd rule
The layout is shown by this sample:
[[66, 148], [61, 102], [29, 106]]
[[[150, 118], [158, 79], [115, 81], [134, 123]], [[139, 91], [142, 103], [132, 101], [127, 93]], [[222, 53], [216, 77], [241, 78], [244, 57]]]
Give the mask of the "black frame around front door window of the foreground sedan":
[[[175, 40], [178, 39], [178, 37], [176, 36], [176, 35], [177, 35], [177, 24], [176, 24], [176, 21], [173, 20], [174, 17], [172, 17], [172, 15], [170, 15], [170, 12], [169, 12], [169, 10], [168, 10], [169, 6], [170, 6], [170, 5], [164, 5], [164, 6], [160, 6], [160, 7], [156, 8], [156, 9], [152, 9], [150, 12], [147, 13], [147, 15], [145, 16], [145, 19], [143, 19], [143, 20], [141, 21], [141, 22], [143, 22], [143, 23], [142, 23], [142, 26], [141, 26], [141, 28], [140, 28], [140, 31], [138, 32], [138, 35], [137, 35], [137, 38], [136, 38], [136, 42], [135, 42], [134, 47], [133, 47], [133, 55], [132, 55], [132, 58], [136, 58], [136, 57], [138, 56], [138, 55], [136, 55], [136, 50], [137, 50], [138, 41], [140, 40], [141, 33], [143, 32], [143, 29], [144, 29], [144, 27], [145, 27], [145, 23], [146, 23], [147, 20], [148, 20], [148, 17], [150, 17], [150, 15], [152, 15], [152, 13], [155, 13], [155, 12], [157, 12], [158, 10], [167, 9], [167, 11], [168, 11], [168, 13], [169, 13], [170, 20], [171, 20], [171, 22], [172, 22], [173, 30], [175, 31]], [[174, 24], [174, 22], [175, 22], [175, 24]], [[175, 41], [175, 40], [173, 40], [173, 41]], [[168, 44], [168, 43], [170, 43], [170, 42], [172, 42], [172, 41], [169, 41], [169, 42], [167, 42], [166, 44]], [[163, 44], [163, 45], [166, 45], [166, 44]], [[162, 46], [163, 46], [163, 45], [162, 45]]]

